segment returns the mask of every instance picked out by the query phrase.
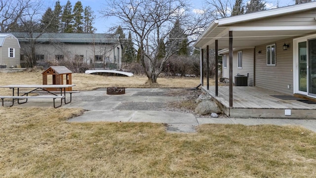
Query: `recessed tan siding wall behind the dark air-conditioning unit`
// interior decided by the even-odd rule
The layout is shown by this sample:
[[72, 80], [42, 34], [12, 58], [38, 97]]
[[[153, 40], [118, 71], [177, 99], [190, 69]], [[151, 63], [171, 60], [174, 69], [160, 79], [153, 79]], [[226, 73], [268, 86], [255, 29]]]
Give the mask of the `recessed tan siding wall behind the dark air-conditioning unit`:
[[[237, 63], [237, 55], [238, 51], [242, 51], [242, 68], [238, 68]], [[242, 50], [236, 50], [233, 52], [233, 81], [235, 83], [235, 77], [237, 74], [245, 75], [249, 74], [248, 77], [248, 86], [254, 85], [254, 72], [253, 72], [253, 65], [254, 65], [254, 59], [253, 59], [253, 49], [242, 49]], [[227, 60], [227, 68], [224, 68], [223, 70], [223, 77], [229, 78], [229, 54], [226, 54], [226, 60]]]

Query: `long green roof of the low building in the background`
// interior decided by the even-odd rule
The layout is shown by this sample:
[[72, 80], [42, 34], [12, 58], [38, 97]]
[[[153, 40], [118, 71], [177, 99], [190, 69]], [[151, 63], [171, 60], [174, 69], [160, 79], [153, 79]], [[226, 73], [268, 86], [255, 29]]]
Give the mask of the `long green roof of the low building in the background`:
[[119, 34], [79, 34], [79, 33], [33, 33], [30, 37], [25, 32], [12, 32], [19, 42], [29, 42], [30, 38], [39, 43], [69, 43], [69, 44], [115, 44], [118, 43]]

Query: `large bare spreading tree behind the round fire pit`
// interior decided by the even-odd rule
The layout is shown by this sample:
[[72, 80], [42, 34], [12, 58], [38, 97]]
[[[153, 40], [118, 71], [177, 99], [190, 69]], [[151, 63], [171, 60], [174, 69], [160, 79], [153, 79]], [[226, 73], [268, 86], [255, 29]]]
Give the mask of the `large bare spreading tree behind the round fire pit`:
[[[212, 20], [208, 13], [202, 10], [193, 13], [189, 8], [185, 0], [108, 0], [101, 13], [105, 17], [117, 17], [119, 25], [132, 32], [148, 82], [157, 83], [166, 61], [177, 52], [173, 50], [176, 47], [172, 47], [176, 44], [170, 44], [164, 56], [159, 56], [159, 47], [167, 41], [174, 23], [183, 22], [185, 35], [197, 37]], [[193, 42], [190, 38], [188, 44]]]

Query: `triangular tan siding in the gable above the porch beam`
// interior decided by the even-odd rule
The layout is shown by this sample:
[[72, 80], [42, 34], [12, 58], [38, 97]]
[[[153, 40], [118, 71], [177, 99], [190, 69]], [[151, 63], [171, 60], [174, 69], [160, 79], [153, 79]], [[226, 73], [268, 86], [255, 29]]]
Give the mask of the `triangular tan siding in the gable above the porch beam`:
[[315, 25], [316, 10], [288, 14], [280, 17], [261, 19], [254, 22], [239, 23], [236, 26], [297, 26]]

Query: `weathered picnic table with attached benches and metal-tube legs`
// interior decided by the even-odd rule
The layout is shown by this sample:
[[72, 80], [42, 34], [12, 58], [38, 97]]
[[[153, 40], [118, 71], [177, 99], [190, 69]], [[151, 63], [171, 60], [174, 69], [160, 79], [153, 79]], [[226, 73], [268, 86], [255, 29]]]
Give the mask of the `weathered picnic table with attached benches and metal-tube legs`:
[[[0, 88], [9, 88], [12, 89], [12, 95], [11, 96], [0, 96], [0, 99], [2, 100], [2, 106], [4, 106], [3, 104], [3, 100], [5, 98], [9, 98], [12, 99], [12, 105], [14, 105], [14, 100], [17, 99], [18, 104], [23, 104], [26, 103], [28, 101], [28, 99], [31, 98], [52, 98], [53, 99], [53, 103], [54, 103], [54, 108], [58, 108], [60, 106], [62, 106], [63, 104], [63, 100], [65, 102], [65, 104], [68, 104], [71, 102], [72, 100], [72, 93], [74, 92], [79, 92], [79, 91], [66, 91], [67, 88], [71, 88], [74, 87], [76, 85], [72, 84], [72, 85], [7, 85], [7, 86], [0, 86]], [[57, 91], [49, 91], [47, 90], [48, 88], [54, 88]], [[17, 95], [14, 95], [14, 90], [17, 89]], [[20, 89], [29, 89], [27, 91], [20, 91]], [[31, 90], [30, 90], [31, 89]], [[29, 96], [30, 93], [42, 93], [44, 95], [37, 95], [37, 96]], [[70, 93], [70, 101], [66, 102], [66, 93]], [[55, 99], [60, 98], [60, 105], [56, 106], [55, 105]], [[26, 99], [23, 102], [20, 102], [20, 99]]]

